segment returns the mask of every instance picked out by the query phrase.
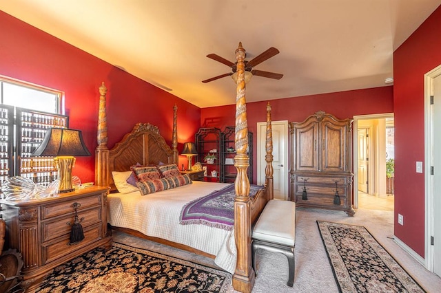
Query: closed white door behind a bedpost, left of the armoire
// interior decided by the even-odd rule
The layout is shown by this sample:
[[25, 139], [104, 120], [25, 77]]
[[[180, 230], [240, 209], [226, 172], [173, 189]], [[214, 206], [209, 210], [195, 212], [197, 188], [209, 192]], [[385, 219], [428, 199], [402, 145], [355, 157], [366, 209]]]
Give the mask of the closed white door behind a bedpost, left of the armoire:
[[[288, 199], [288, 121], [272, 121], [274, 198]], [[265, 183], [267, 122], [257, 123], [257, 184]]]

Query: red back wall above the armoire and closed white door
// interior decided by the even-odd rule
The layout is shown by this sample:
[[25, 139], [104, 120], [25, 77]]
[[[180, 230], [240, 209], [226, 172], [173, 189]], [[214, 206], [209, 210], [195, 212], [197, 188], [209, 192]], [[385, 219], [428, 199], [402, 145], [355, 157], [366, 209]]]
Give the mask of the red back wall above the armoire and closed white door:
[[[252, 84], [249, 84], [252, 87]], [[267, 102], [247, 103], [248, 129], [253, 135], [253, 153], [257, 153], [257, 122], [267, 120]], [[271, 120], [301, 122], [316, 111], [332, 113], [340, 119], [373, 113], [393, 112], [393, 87], [376, 87], [332, 94], [270, 100]], [[234, 126], [236, 105], [201, 109], [203, 127]], [[257, 182], [257, 159], [253, 158], [253, 182]]]

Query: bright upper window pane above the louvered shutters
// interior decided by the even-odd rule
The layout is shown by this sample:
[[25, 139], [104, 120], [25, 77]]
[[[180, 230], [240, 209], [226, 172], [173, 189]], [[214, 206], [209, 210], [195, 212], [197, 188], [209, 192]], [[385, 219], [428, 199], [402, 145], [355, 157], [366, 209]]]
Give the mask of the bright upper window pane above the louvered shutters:
[[62, 95], [61, 91], [0, 76], [0, 100], [3, 105], [61, 114], [64, 112], [61, 109]]

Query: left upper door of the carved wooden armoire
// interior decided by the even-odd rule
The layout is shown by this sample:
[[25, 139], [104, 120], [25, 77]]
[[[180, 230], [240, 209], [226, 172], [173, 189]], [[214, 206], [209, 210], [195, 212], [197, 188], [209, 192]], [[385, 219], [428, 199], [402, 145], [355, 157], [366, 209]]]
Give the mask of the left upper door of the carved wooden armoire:
[[318, 171], [318, 122], [296, 125], [294, 168], [297, 171]]

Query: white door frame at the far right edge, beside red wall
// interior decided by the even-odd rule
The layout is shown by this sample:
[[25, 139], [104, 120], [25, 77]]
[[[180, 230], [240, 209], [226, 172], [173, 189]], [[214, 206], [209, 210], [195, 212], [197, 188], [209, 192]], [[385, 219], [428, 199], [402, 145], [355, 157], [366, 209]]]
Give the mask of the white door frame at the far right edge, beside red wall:
[[[433, 107], [431, 107], [431, 96], [433, 96], [433, 80], [441, 74], [441, 65], [435, 67], [427, 74], [424, 74], [424, 265], [430, 272], [433, 272], [433, 249], [430, 237], [435, 232], [435, 215], [433, 211]], [[439, 239], [438, 239], [439, 241]]]

